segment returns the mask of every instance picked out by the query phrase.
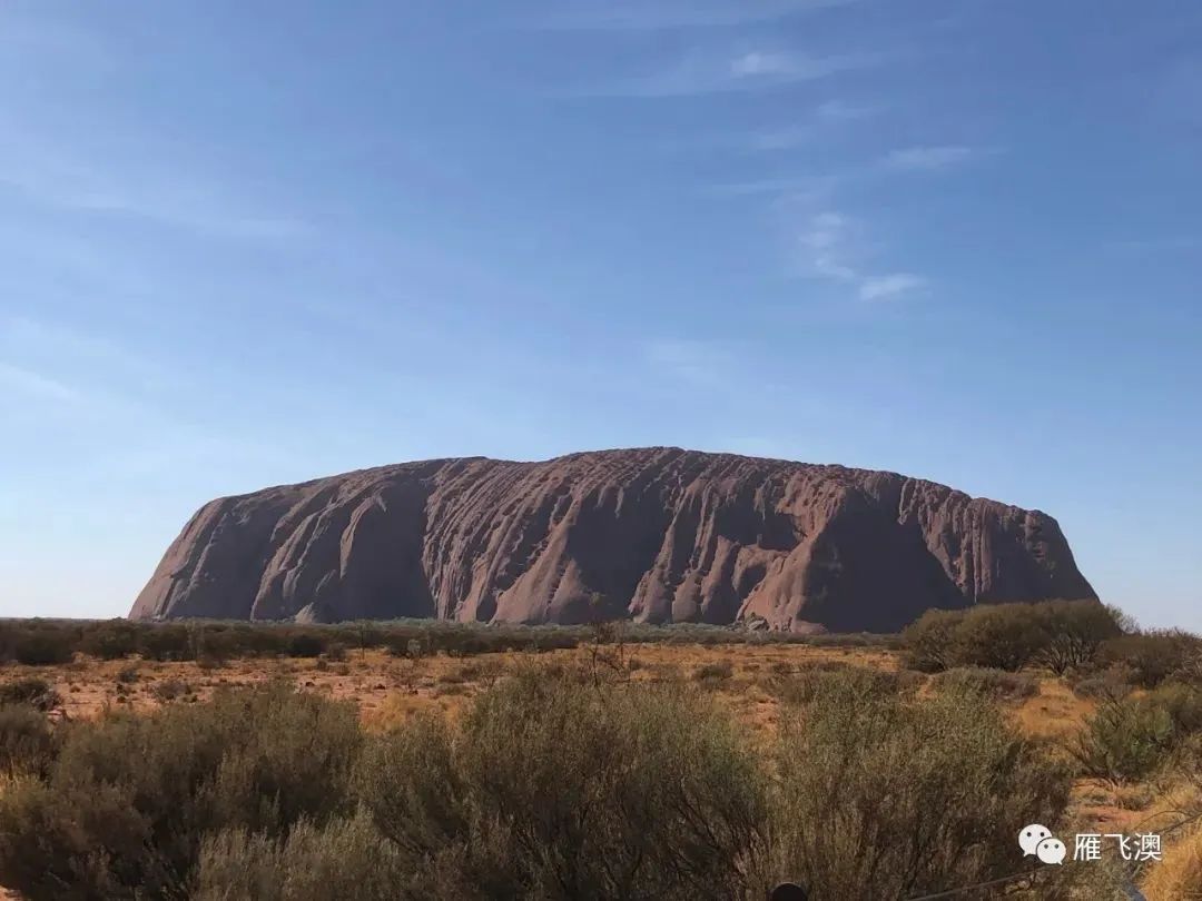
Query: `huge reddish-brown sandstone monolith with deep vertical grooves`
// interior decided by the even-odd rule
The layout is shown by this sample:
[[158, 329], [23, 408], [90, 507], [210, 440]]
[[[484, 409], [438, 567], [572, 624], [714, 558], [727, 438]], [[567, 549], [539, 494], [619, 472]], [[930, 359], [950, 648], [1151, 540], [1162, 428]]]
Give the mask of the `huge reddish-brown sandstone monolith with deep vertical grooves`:
[[1043, 513], [891, 472], [647, 448], [215, 500], [130, 615], [892, 631], [930, 607], [1087, 597]]

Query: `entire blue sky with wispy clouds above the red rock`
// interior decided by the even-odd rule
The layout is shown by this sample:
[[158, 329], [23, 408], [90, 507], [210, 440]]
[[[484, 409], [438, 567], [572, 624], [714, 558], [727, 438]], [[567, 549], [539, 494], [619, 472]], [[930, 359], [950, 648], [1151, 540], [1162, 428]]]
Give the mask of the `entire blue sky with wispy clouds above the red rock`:
[[1055, 515], [1202, 628], [1195, 0], [0, 5], [0, 615], [203, 501], [679, 444]]

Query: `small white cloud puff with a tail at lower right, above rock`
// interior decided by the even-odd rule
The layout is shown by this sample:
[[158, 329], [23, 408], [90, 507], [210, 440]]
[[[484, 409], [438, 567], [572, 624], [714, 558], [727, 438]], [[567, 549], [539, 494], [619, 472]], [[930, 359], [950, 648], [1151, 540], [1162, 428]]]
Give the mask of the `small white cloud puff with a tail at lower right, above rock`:
[[874, 273], [863, 226], [838, 211], [814, 213], [793, 235], [793, 258], [807, 278], [839, 282], [861, 300], [891, 300], [927, 285], [914, 273]]

